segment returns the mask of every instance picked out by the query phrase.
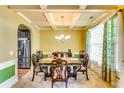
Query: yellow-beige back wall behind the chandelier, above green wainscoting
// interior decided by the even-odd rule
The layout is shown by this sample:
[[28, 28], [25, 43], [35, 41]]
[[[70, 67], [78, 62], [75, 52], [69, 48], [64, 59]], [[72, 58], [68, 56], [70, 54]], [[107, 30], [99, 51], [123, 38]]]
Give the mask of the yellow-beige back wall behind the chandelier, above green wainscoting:
[[[64, 43], [54, 37], [58, 34], [71, 35]], [[44, 52], [67, 51], [78, 52], [86, 49], [86, 31], [41, 31], [41, 50]]]

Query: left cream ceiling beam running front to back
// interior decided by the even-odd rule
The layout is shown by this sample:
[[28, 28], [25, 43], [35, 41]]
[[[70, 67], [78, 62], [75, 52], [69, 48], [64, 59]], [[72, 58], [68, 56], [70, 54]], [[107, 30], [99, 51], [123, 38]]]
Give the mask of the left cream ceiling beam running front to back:
[[43, 11], [43, 13], [44, 13], [49, 25], [51, 26], [52, 30], [54, 31], [56, 27], [55, 27], [55, 23], [54, 23], [54, 19], [52, 17], [52, 14], [45, 12], [45, 10], [47, 10], [46, 5], [44, 5], [44, 6], [40, 5], [40, 7], [41, 7], [41, 10]]

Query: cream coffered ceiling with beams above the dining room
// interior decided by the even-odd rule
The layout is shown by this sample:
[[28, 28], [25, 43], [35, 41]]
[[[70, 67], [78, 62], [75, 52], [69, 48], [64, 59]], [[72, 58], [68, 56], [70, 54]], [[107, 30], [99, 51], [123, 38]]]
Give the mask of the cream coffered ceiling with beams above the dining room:
[[[117, 9], [115, 5], [10, 5], [39, 30], [82, 30]], [[63, 16], [63, 18], [62, 18]]]

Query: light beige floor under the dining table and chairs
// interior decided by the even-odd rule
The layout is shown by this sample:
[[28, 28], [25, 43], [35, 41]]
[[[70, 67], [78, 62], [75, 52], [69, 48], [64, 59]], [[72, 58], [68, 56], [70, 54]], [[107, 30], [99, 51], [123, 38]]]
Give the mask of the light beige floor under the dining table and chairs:
[[[23, 72], [23, 71], [22, 71]], [[86, 76], [82, 73], [78, 73], [77, 80], [69, 78], [68, 88], [111, 88], [112, 86], [103, 81], [96, 73], [88, 69], [89, 80], [86, 80]], [[32, 70], [26, 73], [20, 78], [17, 84], [13, 88], [51, 88], [51, 78], [47, 78], [44, 81], [43, 73], [39, 73], [32, 82]], [[57, 82], [54, 84], [55, 88], [65, 88], [63, 82]]]

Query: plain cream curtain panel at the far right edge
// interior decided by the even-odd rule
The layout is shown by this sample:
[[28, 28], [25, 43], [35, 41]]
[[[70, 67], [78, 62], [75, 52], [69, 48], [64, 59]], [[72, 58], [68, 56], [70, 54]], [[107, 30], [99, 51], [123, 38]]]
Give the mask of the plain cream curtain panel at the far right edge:
[[117, 48], [116, 48], [116, 51], [117, 51], [117, 59], [116, 59], [116, 70], [118, 71], [118, 74], [120, 72], [120, 64], [124, 58], [124, 31], [123, 31], [123, 16], [122, 16], [122, 12], [119, 11], [118, 12], [118, 17], [117, 17], [117, 20], [118, 20], [118, 33], [117, 33]]

